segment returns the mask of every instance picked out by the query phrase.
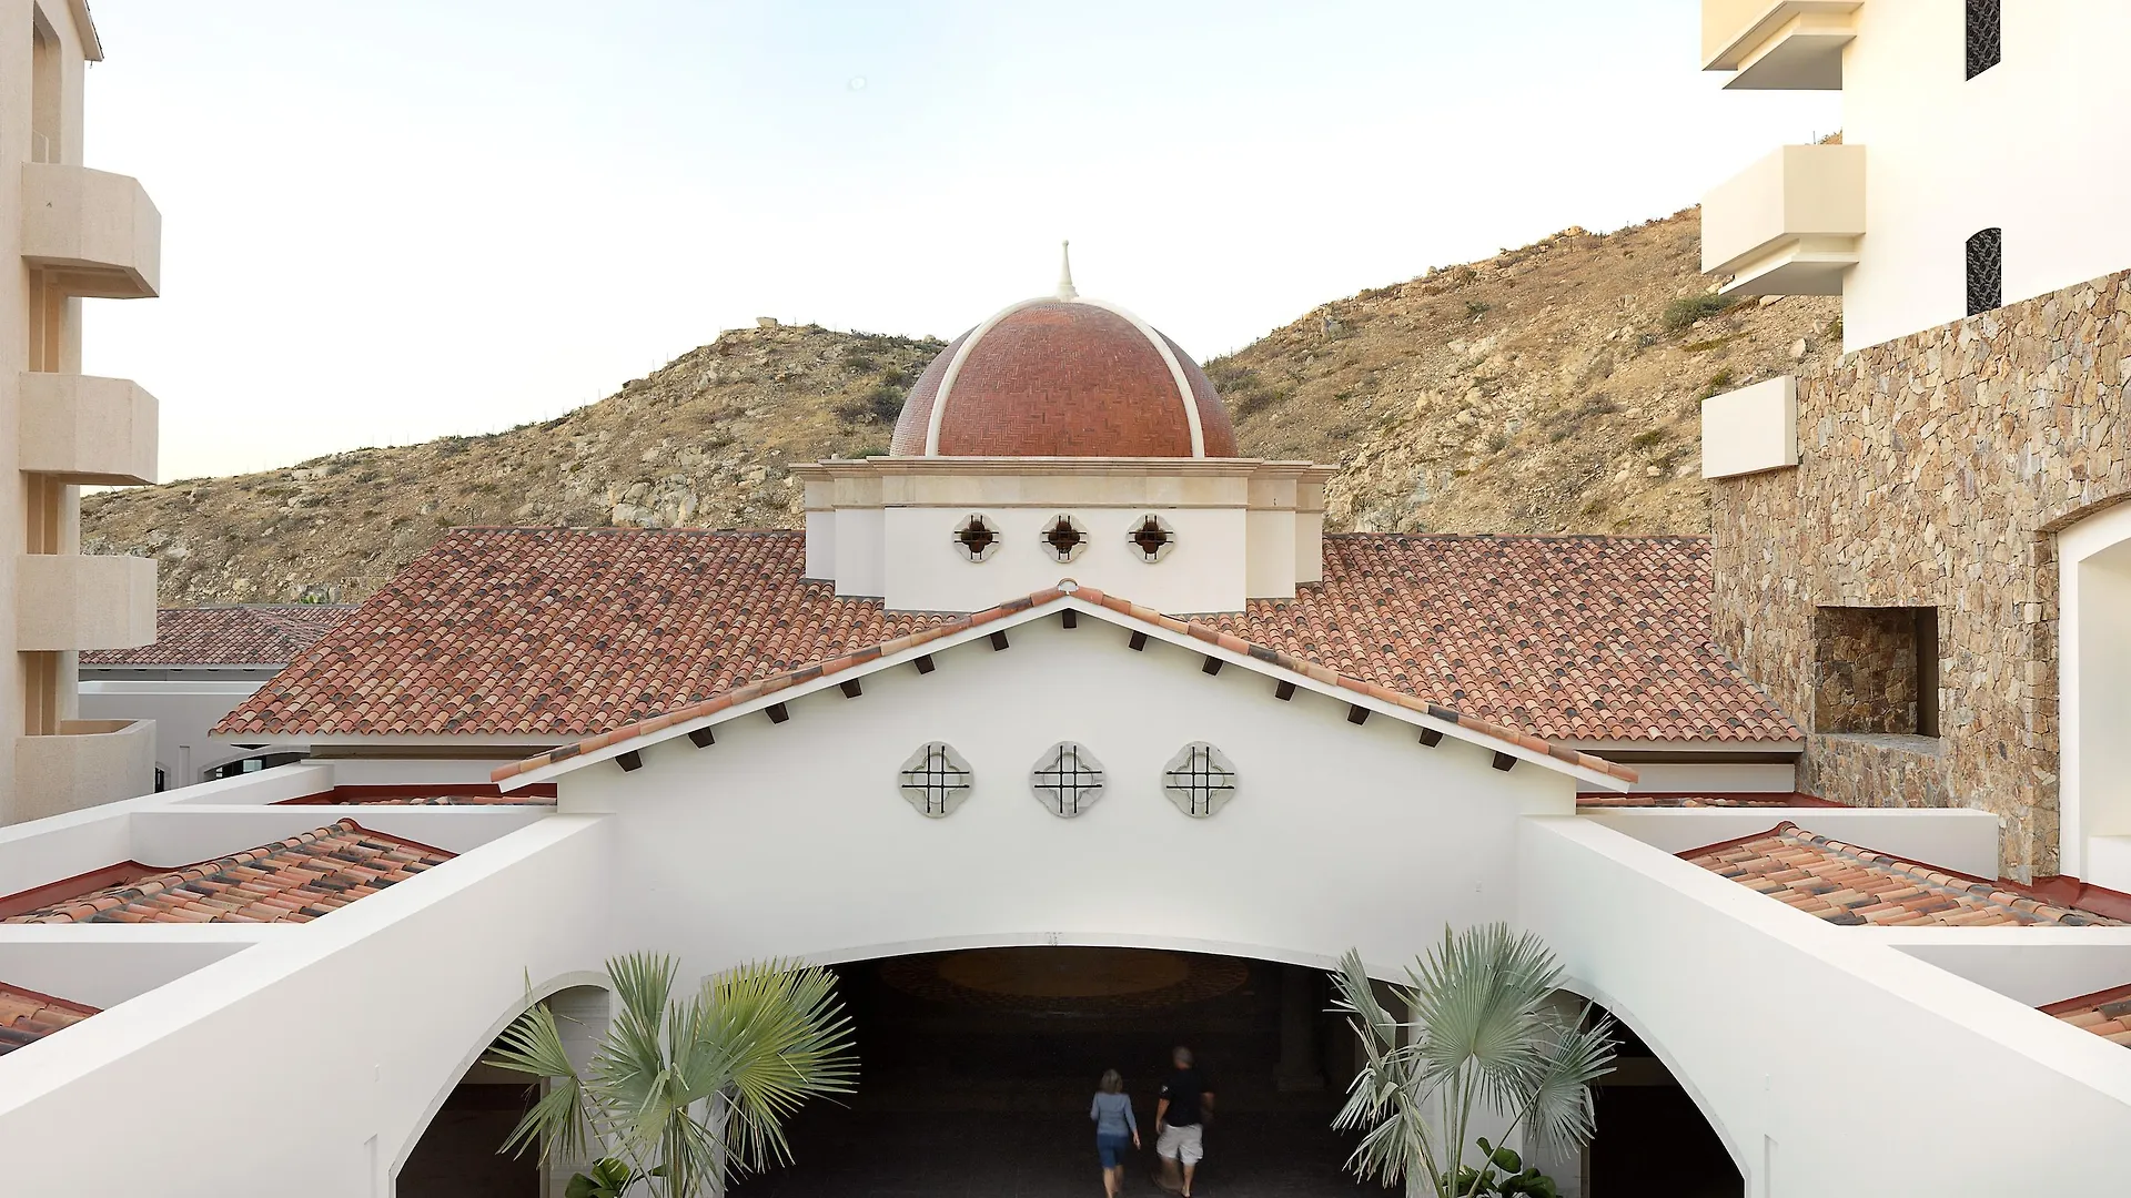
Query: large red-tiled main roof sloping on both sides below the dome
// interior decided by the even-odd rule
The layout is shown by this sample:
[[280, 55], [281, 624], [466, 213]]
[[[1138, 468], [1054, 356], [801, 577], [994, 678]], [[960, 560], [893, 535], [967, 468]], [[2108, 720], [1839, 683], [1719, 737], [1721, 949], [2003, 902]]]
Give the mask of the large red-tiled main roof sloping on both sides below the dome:
[[[230, 735], [571, 740], [953, 622], [801, 578], [801, 533], [458, 529]], [[1709, 642], [1696, 537], [1325, 537], [1325, 582], [1202, 616], [1549, 740], [1794, 742]]]

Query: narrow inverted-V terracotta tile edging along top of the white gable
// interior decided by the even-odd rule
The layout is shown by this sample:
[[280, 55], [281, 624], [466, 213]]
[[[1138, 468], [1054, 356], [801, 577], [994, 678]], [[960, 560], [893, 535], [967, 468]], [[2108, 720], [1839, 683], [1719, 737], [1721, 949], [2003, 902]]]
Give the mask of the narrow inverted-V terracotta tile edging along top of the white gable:
[[[1070, 590], [1066, 590], [1066, 586], [1070, 586]], [[1129, 618], [1146, 622], [1146, 625], [1157, 625], [1157, 627], [1168, 629], [1172, 633], [1183, 633], [1183, 635], [1189, 635], [1193, 640], [1217, 644], [1217, 646], [1221, 646], [1221, 648], [1225, 648], [1230, 652], [1249, 657], [1253, 661], [1262, 661], [1262, 663], [1274, 665], [1279, 669], [1302, 674], [1306, 678], [1313, 678], [1317, 682], [1325, 682], [1330, 686], [1340, 686], [1345, 691], [1353, 691], [1355, 695], [1368, 695], [1370, 699], [1379, 699], [1383, 703], [1394, 703], [1394, 706], [1406, 708], [1411, 712], [1428, 712], [1428, 716], [1432, 716], [1432, 718], [1438, 718], [1438, 721], [1449, 723], [1449, 725], [1458, 725], [1458, 727], [1475, 731], [1475, 733], [1479, 733], [1483, 738], [1509, 742], [1509, 744], [1515, 744], [1519, 748], [1528, 748], [1532, 752], [1543, 752], [1547, 757], [1553, 757], [1558, 761], [1566, 761], [1571, 765], [1581, 765], [1585, 770], [1596, 770], [1598, 774], [1611, 774], [1611, 776], [1622, 778], [1626, 782], [1634, 782], [1634, 778], [1637, 778], [1634, 770], [1628, 770], [1626, 765], [1615, 765], [1615, 763], [1605, 761], [1600, 757], [1592, 757], [1590, 752], [1577, 752], [1575, 748], [1564, 748], [1560, 744], [1549, 744], [1549, 742], [1545, 742], [1545, 740], [1541, 740], [1536, 735], [1530, 735], [1530, 733], [1524, 733], [1524, 731], [1517, 731], [1517, 729], [1509, 729], [1509, 727], [1502, 727], [1502, 725], [1496, 725], [1496, 723], [1490, 723], [1490, 721], [1481, 721], [1477, 716], [1468, 716], [1468, 714], [1451, 710], [1451, 708], [1441, 708], [1436, 703], [1428, 703], [1428, 701], [1415, 699], [1413, 695], [1404, 695], [1400, 691], [1387, 691], [1383, 686], [1377, 686], [1374, 682], [1364, 682], [1360, 678], [1351, 678], [1351, 676], [1338, 674], [1334, 669], [1325, 669], [1323, 665], [1317, 665], [1315, 661], [1302, 661], [1302, 659], [1289, 657], [1289, 654], [1285, 654], [1285, 652], [1281, 652], [1276, 648], [1266, 648], [1266, 646], [1259, 646], [1259, 644], [1245, 642], [1240, 637], [1232, 637], [1232, 635], [1215, 629], [1213, 625], [1202, 625], [1202, 622], [1195, 622], [1195, 620], [1178, 620], [1178, 618], [1172, 618], [1172, 616], [1164, 616], [1161, 612], [1155, 612], [1153, 608], [1140, 608], [1138, 603], [1132, 603], [1127, 599], [1119, 599], [1117, 595], [1104, 595], [1102, 590], [1095, 590], [1093, 586], [1074, 586], [1070, 582], [1061, 584], [1057, 588], [1051, 588], [1051, 590], [1038, 590], [1036, 595], [1027, 595], [1027, 597], [1014, 599], [1010, 603], [999, 603], [997, 608], [987, 608], [982, 612], [963, 616], [963, 618], [946, 622], [946, 625], [933, 625], [929, 629], [921, 629], [916, 633], [910, 633], [910, 635], [904, 635], [904, 637], [895, 637], [891, 642], [882, 642], [882, 644], [876, 644], [876, 646], [865, 646], [865, 648], [861, 648], [857, 652], [848, 652], [844, 657], [833, 657], [829, 661], [818, 661], [818, 663], [806, 665], [801, 669], [793, 669], [793, 671], [786, 671], [786, 674], [778, 674], [774, 678], [765, 678], [761, 682], [750, 682], [746, 686], [735, 686], [735, 689], [731, 689], [731, 691], [727, 691], [722, 695], [716, 695], [712, 699], [703, 699], [699, 703], [688, 703], [684, 708], [676, 708], [671, 712], [663, 712], [663, 714], [652, 716], [648, 721], [629, 723], [629, 725], [622, 725], [618, 729], [603, 731], [599, 735], [580, 740], [575, 744], [565, 744], [560, 748], [554, 748], [550, 752], [541, 752], [541, 755], [531, 757], [526, 761], [518, 761], [518, 763], [511, 763], [511, 765], [497, 767], [490, 774], [490, 778], [494, 778], [497, 782], [503, 782], [505, 778], [514, 778], [518, 774], [524, 774], [524, 772], [531, 772], [531, 770], [539, 770], [543, 765], [554, 765], [556, 761], [567, 761], [567, 759], [578, 757], [582, 752], [597, 752], [601, 748], [607, 748], [609, 744], [620, 744], [620, 742], [627, 742], [627, 740], [635, 740], [639, 735], [650, 735], [650, 733], [669, 729], [673, 725], [682, 725], [682, 723], [688, 723], [688, 721], [699, 721], [703, 716], [714, 716], [714, 714], [718, 714], [718, 712], [722, 712], [727, 708], [733, 708], [733, 706], [739, 706], [739, 703], [748, 703], [748, 701], [761, 699], [763, 695], [774, 695], [778, 691], [784, 691], [786, 686], [797, 686], [797, 684], [810, 682], [814, 678], [825, 678], [825, 676], [831, 676], [831, 674], [842, 674], [846, 669], [857, 669], [857, 667], [861, 667], [861, 665], [865, 665], [869, 661], [878, 661], [882, 657], [893, 657], [897, 652], [904, 652], [908, 648], [918, 648], [923, 644], [931, 644], [931, 642], [936, 642], [940, 637], [946, 637], [946, 635], [955, 635], [955, 633], [961, 633], [961, 631], [967, 631], [967, 629], [976, 629], [976, 627], [982, 627], [982, 625], [989, 625], [989, 622], [995, 622], [995, 620], [1004, 620], [1006, 616], [1012, 616], [1014, 612], [1027, 612], [1029, 608], [1040, 608], [1040, 605], [1051, 603], [1055, 599], [1063, 599], [1066, 595], [1074, 595], [1076, 599], [1083, 599], [1083, 601], [1089, 601], [1089, 603], [1100, 603], [1102, 608], [1108, 608], [1112, 612], [1119, 612], [1123, 616], [1129, 616]]]

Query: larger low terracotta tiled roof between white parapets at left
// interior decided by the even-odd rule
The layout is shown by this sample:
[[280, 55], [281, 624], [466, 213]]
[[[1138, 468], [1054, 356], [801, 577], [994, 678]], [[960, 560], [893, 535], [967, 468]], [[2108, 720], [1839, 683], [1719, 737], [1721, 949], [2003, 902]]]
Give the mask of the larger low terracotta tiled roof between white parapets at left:
[[[441, 865], [452, 853], [354, 821], [45, 902], [0, 923], [307, 923]], [[49, 887], [40, 887], [49, 891]]]

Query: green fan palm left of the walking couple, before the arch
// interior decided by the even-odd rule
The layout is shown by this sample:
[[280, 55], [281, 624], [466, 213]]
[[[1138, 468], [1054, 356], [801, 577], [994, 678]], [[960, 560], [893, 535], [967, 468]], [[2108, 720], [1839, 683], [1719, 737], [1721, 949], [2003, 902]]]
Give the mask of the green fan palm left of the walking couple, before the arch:
[[735, 1177], [791, 1160], [782, 1121], [801, 1102], [850, 1094], [857, 1055], [835, 978], [797, 961], [757, 961], [673, 995], [671, 957], [607, 961], [614, 1017], [580, 1072], [554, 1013], [537, 1004], [499, 1038], [488, 1064], [548, 1081], [503, 1143], [541, 1162], [601, 1153], [569, 1194], [718, 1198]]

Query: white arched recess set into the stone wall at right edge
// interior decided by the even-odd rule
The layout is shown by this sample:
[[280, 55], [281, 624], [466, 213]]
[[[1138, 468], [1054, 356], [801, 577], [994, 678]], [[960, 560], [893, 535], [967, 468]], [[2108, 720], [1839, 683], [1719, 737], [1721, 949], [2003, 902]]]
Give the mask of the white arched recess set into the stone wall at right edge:
[[[2131, 889], [2131, 503], [2056, 535], [2056, 716], [2063, 872]], [[2103, 851], [2095, 851], [2103, 848]]]

